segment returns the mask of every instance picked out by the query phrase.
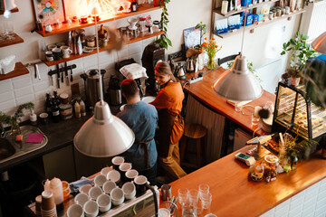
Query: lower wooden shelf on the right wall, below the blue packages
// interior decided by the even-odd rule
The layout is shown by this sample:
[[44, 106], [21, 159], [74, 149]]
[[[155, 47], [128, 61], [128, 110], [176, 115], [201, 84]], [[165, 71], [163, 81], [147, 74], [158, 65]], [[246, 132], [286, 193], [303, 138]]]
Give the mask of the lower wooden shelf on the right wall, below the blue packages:
[[[284, 14], [283, 16], [276, 16], [275, 18], [273, 18], [273, 20], [265, 20], [264, 22], [260, 22], [258, 24], [251, 24], [251, 25], [245, 26], [245, 31], [250, 30], [251, 33], [254, 33], [254, 29], [257, 28], [257, 27], [261, 27], [261, 26], [266, 25], [266, 24], [272, 24], [272, 23], [277, 22], [277, 21], [280, 21], [280, 20], [282, 20], [284, 18], [291, 19], [291, 17], [293, 15], [302, 14], [303, 12], [305, 12], [305, 10], [304, 9], [301, 9], [299, 11], [292, 12], [290, 14]], [[236, 30], [235, 32], [223, 33], [223, 34], [216, 34], [216, 33], [214, 33], [214, 34], [216, 36], [224, 39], [224, 38], [230, 37], [232, 35], [235, 35], [237, 33], [243, 33], [243, 31], [244, 31], [243, 29], [244, 29], [244, 26], [241, 26], [240, 29]]]

